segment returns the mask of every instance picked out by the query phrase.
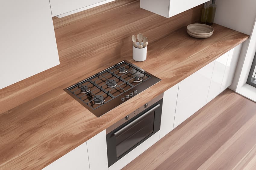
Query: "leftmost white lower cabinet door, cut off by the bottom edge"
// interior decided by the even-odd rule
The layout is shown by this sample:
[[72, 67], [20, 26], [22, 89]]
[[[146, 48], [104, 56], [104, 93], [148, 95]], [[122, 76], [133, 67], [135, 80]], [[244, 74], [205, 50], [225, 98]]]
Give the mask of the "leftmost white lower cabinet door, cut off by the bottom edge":
[[90, 170], [86, 142], [63, 157], [46, 166], [43, 170]]

